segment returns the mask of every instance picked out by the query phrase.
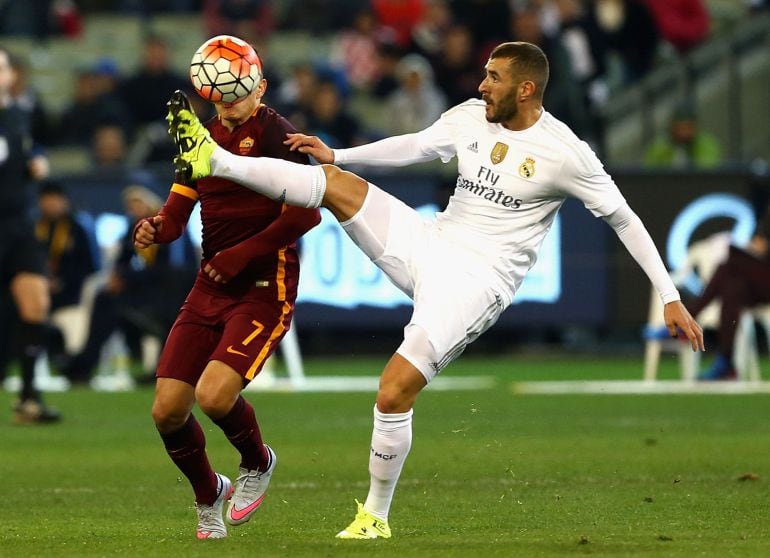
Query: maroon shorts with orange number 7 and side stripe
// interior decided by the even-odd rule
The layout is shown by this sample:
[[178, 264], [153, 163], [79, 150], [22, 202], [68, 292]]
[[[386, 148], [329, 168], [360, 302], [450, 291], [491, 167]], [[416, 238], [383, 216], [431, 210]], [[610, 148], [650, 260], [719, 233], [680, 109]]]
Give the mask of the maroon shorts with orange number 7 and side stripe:
[[209, 361], [219, 360], [249, 382], [278, 347], [293, 313], [294, 301], [276, 300], [272, 289], [236, 299], [194, 287], [168, 334], [157, 376], [194, 386]]

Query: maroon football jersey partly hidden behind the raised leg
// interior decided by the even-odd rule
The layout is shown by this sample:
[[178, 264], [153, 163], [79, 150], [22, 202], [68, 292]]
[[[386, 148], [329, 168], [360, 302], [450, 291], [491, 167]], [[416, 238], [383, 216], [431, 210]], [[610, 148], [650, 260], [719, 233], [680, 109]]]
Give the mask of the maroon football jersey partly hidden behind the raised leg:
[[[307, 155], [289, 151], [283, 145], [286, 134], [295, 132], [295, 128], [265, 105], [260, 105], [246, 122], [232, 132], [222, 125], [219, 117], [212, 118], [205, 125], [217, 144], [236, 155], [309, 163]], [[283, 208], [282, 203], [224, 178], [203, 178], [197, 181], [195, 189], [201, 203], [203, 224], [202, 268], [217, 252], [265, 229]], [[233, 295], [240, 295], [255, 285], [260, 287], [268, 282], [270, 287], [276, 286], [279, 298], [285, 300], [287, 294], [289, 298], [294, 298], [298, 280], [299, 263], [296, 244], [293, 243], [286, 249], [255, 259], [229, 283], [222, 285], [208, 279], [206, 286], [218, 292], [224, 289]], [[280, 291], [284, 289], [286, 292], [281, 296]]]

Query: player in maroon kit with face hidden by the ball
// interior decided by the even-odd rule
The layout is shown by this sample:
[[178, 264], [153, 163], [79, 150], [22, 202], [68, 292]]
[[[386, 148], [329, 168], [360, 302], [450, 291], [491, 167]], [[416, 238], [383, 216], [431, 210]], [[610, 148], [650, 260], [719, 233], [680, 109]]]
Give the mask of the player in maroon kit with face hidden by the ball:
[[[261, 104], [266, 86], [262, 79], [244, 99], [215, 103], [217, 116], [206, 127], [232, 153], [308, 163], [307, 155], [283, 145], [295, 130]], [[295, 243], [320, 214], [229, 180], [175, 183], [159, 214], [137, 225], [135, 245], [177, 238], [197, 201], [203, 262], [158, 363], [152, 417], [169, 457], [192, 484], [197, 536], [205, 539], [227, 536], [222, 508], [231, 495], [227, 522], [248, 521], [275, 469], [276, 455], [263, 443], [254, 409], [240, 392], [289, 328], [299, 280]], [[234, 488], [209, 465], [203, 430], [191, 412], [196, 401], [241, 454]]]

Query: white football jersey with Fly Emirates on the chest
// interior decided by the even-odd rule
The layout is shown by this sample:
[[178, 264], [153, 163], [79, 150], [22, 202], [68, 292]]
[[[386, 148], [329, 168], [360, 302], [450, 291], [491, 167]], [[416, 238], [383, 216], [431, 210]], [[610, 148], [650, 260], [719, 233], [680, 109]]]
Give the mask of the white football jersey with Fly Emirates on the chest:
[[468, 100], [416, 136], [426, 156], [458, 159], [454, 193], [437, 215], [440, 234], [481, 256], [512, 294], [567, 197], [595, 216], [625, 199], [588, 144], [545, 110], [511, 131], [487, 122], [484, 107]]

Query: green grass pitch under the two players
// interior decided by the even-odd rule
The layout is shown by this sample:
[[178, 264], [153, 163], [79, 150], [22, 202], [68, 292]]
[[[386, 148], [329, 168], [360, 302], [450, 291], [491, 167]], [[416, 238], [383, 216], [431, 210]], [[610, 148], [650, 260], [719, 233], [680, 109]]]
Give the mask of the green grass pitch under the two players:
[[[376, 374], [316, 359], [309, 374]], [[673, 375], [674, 364], [666, 363]], [[61, 425], [10, 425], [0, 393], [0, 556], [770, 556], [767, 395], [515, 395], [533, 379], [639, 379], [636, 359], [461, 358], [428, 390], [391, 511], [393, 538], [338, 541], [368, 486], [373, 393], [247, 394], [279, 464], [263, 508], [195, 539], [192, 492], [149, 416], [152, 390], [51, 394]], [[237, 456], [208, 419], [214, 467]], [[741, 480], [741, 479], [744, 480]]]

